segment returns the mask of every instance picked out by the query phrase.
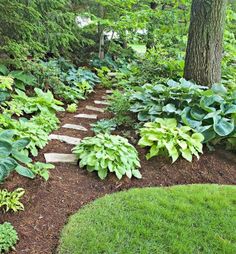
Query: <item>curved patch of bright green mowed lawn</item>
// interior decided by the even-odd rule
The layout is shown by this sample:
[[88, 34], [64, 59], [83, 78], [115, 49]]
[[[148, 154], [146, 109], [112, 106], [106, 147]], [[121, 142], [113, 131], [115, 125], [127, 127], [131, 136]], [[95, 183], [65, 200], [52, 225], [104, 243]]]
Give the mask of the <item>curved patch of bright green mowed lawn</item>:
[[82, 208], [65, 226], [60, 254], [235, 254], [236, 187], [132, 189]]

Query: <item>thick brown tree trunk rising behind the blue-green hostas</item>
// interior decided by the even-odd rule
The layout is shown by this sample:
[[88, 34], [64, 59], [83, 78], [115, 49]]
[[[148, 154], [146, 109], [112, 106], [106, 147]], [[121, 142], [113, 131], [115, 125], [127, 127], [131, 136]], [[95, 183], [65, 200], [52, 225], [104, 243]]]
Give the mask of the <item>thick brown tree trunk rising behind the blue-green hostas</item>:
[[184, 78], [198, 84], [221, 81], [227, 0], [193, 0]]

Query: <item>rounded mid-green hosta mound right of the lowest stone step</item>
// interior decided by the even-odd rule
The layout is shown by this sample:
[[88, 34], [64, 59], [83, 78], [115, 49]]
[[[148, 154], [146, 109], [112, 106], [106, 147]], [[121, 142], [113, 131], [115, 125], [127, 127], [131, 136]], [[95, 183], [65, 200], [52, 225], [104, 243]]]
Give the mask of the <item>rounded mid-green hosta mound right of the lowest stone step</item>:
[[128, 140], [109, 134], [87, 137], [73, 149], [81, 168], [89, 172], [97, 171], [101, 179], [114, 172], [118, 179], [126, 175], [141, 178], [138, 152]]

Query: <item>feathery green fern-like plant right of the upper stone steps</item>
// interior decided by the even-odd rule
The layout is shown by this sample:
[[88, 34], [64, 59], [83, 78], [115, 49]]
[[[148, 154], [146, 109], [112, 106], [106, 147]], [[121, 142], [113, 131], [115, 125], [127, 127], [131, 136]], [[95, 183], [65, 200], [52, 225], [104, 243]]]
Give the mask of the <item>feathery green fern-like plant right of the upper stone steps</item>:
[[132, 118], [129, 115], [130, 102], [129, 94], [124, 94], [118, 90], [109, 97], [108, 110], [114, 114], [114, 122], [117, 125], [131, 125]]

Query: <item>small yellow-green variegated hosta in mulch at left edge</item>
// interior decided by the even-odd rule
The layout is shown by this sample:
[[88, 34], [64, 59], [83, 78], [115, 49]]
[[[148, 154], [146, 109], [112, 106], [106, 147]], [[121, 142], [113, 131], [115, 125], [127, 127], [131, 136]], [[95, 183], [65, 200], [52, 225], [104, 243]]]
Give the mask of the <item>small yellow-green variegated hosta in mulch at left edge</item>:
[[20, 202], [20, 199], [24, 194], [25, 190], [22, 188], [18, 188], [12, 192], [0, 190], [0, 208], [3, 208], [5, 212], [11, 210], [13, 212], [23, 211], [24, 205]]

